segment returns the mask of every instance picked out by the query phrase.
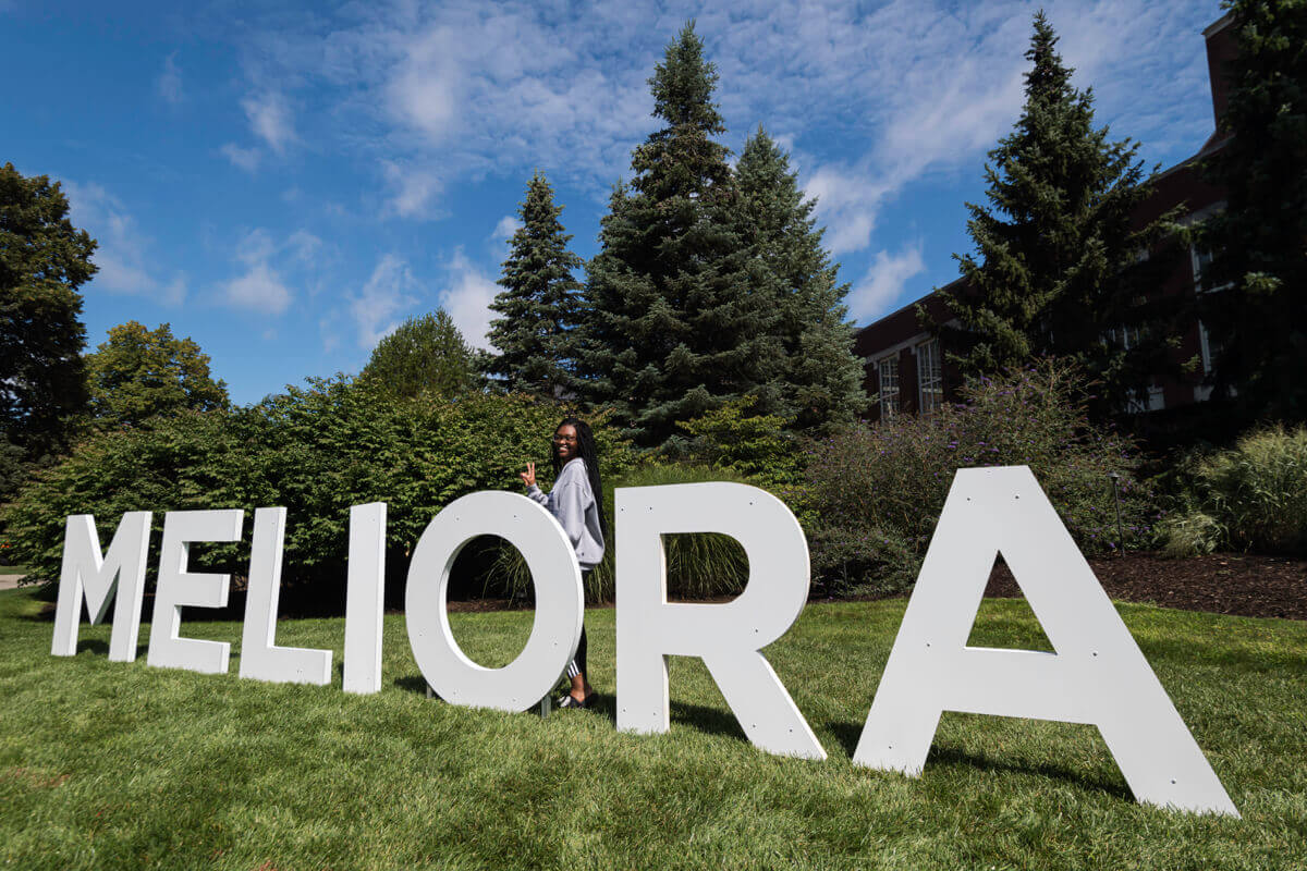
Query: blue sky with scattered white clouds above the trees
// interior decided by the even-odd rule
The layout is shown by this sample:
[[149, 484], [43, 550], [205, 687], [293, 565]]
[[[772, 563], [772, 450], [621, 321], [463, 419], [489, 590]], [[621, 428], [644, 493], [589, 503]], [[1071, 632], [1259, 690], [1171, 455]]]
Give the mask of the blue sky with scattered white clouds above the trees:
[[725, 144], [762, 123], [791, 151], [861, 325], [957, 276], [1040, 5], [1114, 138], [1149, 166], [1199, 149], [1214, 0], [0, 0], [0, 162], [63, 182], [99, 240], [89, 349], [167, 321], [254, 402], [440, 306], [484, 346], [535, 168], [593, 255], [655, 128], [646, 80], [695, 18]]

